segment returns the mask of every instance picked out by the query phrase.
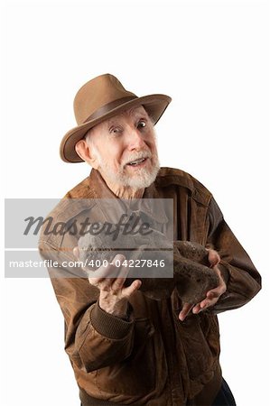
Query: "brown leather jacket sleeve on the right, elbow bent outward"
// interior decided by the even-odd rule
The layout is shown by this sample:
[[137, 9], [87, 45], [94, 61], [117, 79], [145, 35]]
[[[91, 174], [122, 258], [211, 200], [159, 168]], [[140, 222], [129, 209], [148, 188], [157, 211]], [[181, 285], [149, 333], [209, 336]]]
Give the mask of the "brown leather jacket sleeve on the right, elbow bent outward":
[[251, 300], [261, 289], [261, 277], [225, 222], [214, 198], [209, 204], [208, 221], [207, 245], [219, 252], [219, 269], [227, 283], [227, 291], [213, 307], [219, 313], [237, 309]]

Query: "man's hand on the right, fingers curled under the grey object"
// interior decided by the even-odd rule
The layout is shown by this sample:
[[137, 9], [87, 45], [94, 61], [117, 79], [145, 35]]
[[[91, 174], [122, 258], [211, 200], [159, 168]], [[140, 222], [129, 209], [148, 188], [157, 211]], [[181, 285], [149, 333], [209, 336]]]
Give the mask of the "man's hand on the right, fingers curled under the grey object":
[[217, 286], [217, 288], [208, 291], [206, 294], [206, 298], [200, 301], [200, 303], [183, 303], [182, 310], [179, 313], [179, 318], [181, 321], [183, 321], [191, 311], [193, 314], [198, 314], [200, 313], [200, 311], [214, 306], [219, 300], [220, 296], [227, 290], [226, 283], [221, 276], [221, 272], [219, 271], [219, 254], [217, 253], [217, 251], [212, 249], [209, 249], [208, 251], [210, 268], [212, 268], [214, 272], [217, 272], [219, 276], [219, 285]]

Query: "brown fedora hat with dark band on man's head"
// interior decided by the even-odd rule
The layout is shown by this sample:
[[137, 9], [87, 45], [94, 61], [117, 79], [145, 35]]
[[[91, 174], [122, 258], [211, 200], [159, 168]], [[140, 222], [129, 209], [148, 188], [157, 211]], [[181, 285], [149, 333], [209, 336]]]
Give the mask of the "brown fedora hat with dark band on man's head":
[[165, 95], [137, 97], [127, 91], [115, 76], [108, 73], [89, 80], [74, 98], [74, 113], [78, 126], [63, 137], [61, 159], [65, 162], [81, 162], [75, 151], [76, 143], [90, 128], [107, 118], [134, 106], [144, 106], [156, 124], [171, 100], [171, 97]]

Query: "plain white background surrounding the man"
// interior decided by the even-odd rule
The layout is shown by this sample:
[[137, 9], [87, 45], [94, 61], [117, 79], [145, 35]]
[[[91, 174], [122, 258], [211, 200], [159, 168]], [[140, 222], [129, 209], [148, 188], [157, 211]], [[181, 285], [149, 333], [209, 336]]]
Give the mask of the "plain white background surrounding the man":
[[[172, 96], [156, 127], [161, 163], [212, 191], [264, 281], [219, 316], [223, 374], [237, 406], [269, 404], [268, 2], [10, 1], [2, 12], [5, 197], [61, 198], [88, 175], [59, 158], [88, 79], [109, 72], [138, 96]], [[1, 404], [79, 405], [51, 282], [1, 288]]]

